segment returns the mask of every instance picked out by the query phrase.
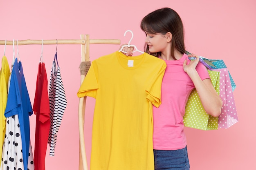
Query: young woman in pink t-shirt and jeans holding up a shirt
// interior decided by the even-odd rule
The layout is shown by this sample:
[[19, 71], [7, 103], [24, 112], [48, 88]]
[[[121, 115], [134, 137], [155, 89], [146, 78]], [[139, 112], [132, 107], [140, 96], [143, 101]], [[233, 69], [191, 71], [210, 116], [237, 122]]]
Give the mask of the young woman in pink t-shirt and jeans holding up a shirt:
[[[153, 108], [153, 148], [155, 170], [189, 170], [183, 116], [188, 97], [196, 88], [206, 112], [214, 117], [221, 113], [222, 100], [216, 93], [207, 69], [189, 60], [184, 46], [180, 16], [170, 8], [157, 9], [141, 21], [146, 33], [145, 52], [167, 64], [162, 81], [162, 104]], [[132, 56], [133, 48], [125, 47]]]

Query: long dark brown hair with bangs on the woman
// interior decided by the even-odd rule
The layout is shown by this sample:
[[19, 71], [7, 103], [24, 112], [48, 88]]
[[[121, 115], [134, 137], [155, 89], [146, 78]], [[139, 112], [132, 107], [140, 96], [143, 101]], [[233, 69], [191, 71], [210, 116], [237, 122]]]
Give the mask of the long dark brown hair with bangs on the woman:
[[[171, 56], [173, 59], [176, 60], [174, 56], [175, 49], [182, 54], [186, 53], [182, 20], [173, 9], [162, 8], [149, 13], [141, 20], [140, 28], [144, 32], [151, 34], [161, 33], [165, 35], [167, 32], [170, 32], [172, 34]], [[147, 44], [145, 44], [144, 50], [146, 53], [150, 53]], [[161, 52], [150, 54], [159, 57]]]

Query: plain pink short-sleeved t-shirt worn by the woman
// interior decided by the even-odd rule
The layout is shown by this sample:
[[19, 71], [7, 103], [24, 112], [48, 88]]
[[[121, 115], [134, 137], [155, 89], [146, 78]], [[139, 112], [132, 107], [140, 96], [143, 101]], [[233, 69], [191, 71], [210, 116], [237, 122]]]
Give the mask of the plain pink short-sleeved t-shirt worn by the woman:
[[[184, 54], [180, 60], [165, 60], [167, 67], [162, 81], [162, 104], [153, 107], [153, 148], [177, 150], [186, 146], [183, 116], [188, 97], [195, 88], [189, 75], [183, 70], [183, 62], [190, 60]], [[200, 78], [210, 78], [207, 69], [198, 63]]]

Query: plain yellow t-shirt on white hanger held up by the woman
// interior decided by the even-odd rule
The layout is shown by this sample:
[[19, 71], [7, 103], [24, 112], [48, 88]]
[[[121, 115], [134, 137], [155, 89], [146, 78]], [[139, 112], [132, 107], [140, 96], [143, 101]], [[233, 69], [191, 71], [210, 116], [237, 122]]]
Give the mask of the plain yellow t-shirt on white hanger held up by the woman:
[[96, 99], [91, 170], [154, 170], [152, 104], [161, 104], [165, 68], [147, 53], [92, 61], [77, 93]]

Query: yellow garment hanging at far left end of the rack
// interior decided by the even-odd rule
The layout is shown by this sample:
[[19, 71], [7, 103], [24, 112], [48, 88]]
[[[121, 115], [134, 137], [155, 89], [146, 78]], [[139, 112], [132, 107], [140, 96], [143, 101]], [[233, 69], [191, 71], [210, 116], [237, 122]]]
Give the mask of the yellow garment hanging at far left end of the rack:
[[2, 155], [2, 146], [4, 144], [5, 136], [5, 116], [4, 111], [7, 104], [7, 94], [8, 94], [8, 80], [11, 75], [9, 64], [5, 56], [2, 57], [2, 67], [0, 71], [0, 154]]

